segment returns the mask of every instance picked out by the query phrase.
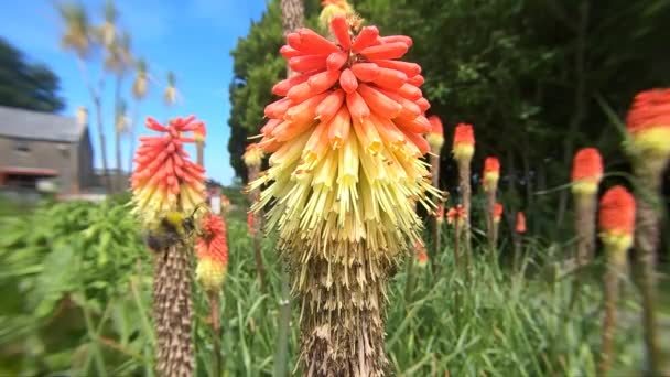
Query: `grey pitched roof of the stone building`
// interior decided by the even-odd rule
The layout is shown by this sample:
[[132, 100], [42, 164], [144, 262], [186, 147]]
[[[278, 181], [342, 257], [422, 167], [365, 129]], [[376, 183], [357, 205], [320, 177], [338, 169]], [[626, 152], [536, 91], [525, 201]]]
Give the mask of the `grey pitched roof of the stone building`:
[[0, 106], [0, 136], [75, 142], [86, 130], [74, 117]]

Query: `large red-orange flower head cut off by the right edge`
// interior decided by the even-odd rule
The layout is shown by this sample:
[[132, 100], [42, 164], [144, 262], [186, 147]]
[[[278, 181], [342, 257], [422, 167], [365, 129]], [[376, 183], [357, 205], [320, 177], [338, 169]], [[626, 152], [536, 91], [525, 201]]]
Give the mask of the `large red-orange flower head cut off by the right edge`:
[[651, 89], [635, 96], [626, 127], [633, 150], [642, 158], [670, 158], [670, 89]]

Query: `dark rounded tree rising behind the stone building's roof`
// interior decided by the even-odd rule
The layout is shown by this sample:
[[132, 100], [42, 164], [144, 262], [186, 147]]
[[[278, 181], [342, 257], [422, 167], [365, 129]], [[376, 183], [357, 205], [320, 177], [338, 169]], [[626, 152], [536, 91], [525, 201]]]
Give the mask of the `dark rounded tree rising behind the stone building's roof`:
[[0, 105], [56, 112], [65, 106], [58, 90], [60, 79], [46, 65], [29, 62], [0, 37]]

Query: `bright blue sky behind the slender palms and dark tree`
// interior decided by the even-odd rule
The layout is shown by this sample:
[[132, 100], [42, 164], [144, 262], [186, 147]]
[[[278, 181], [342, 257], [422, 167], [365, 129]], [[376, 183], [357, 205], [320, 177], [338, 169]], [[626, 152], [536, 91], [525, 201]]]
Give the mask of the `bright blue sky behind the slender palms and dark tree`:
[[[67, 103], [64, 115], [74, 115], [77, 106], [86, 106], [90, 116], [93, 103], [74, 56], [60, 47], [63, 30], [58, 14], [50, 0], [0, 0], [0, 35], [25, 53], [33, 62], [47, 64], [61, 77], [61, 95]], [[85, 0], [94, 22], [102, 15], [105, 0]], [[228, 84], [233, 77], [230, 51], [237, 39], [245, 36], [252, 20], [259, 20], [266, 0], [116, 0], [119, 22], [132, 35], [132, 50], [149, 64], [154, 78], [148, 98], [140, 105], [138, 119], [152, 116], [161, 121], [176, 116], [196, 115], [207, 125], [205, 168], [207, 175], [224, 184], [234, 177], [229, 164]], [[181, 4], [181, 6], [180, 6]], [[99, 56], [89, 66], [99, 66]], [[168, 107], [162, 100], [168, 71], [176, 75], [181, 98]], [[98, 69], [90, 75], [99, 77]], [[126, 80], [123, 93], [129, 96], [132, 76]], [[114, 82], [106, 82], [105, 130], [108, 163], [116, 166], [114, 154]], [[134, 103], [129, 100], [129, 109]], [[143, 121], [137, 128], [144, 131]], [[95, 165], [100, 166], [98, 133], [90, 129], [96, 152]], [[122, 166], [128, 165], [128, 139], [123, 143]], [[192, 153], [195, 158], [195, 153]]]

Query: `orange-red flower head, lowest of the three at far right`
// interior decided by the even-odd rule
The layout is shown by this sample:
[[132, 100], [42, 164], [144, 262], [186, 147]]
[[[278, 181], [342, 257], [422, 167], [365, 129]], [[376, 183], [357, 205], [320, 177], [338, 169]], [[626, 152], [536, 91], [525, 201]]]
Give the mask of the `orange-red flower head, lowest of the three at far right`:
[[627, 250], [635, 231], [635, 198], [623, 186], [614, 186], [601, 198], [598, 228], [603, 244]]

